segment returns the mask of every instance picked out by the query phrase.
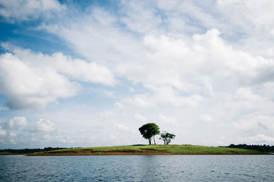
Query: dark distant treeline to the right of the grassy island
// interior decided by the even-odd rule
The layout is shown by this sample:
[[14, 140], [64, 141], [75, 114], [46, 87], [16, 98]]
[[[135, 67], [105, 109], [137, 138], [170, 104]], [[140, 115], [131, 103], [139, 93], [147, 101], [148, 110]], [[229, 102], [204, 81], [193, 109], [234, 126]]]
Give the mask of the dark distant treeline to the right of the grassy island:
[[[223, 147], [223, 146], [220, 146], [220, 147]], [[250, 149], [250, 150], [262, 151], [262, 152], [274, 152], [274, 145], [269, 146], [269, 145], [246, 145], [246, 144], [234, 145], [234, 144], [231, 144], [226, 147], [236, 148], [236, 149]]]

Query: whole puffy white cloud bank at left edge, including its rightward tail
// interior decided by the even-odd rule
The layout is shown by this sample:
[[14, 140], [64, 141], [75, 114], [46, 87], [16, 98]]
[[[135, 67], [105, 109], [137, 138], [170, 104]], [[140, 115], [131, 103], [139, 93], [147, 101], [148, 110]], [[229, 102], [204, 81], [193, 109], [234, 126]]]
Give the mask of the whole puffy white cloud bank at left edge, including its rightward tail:
[[81, 88], [74, 80], [104, 85], [116, 82], [107, 67], [94, 62], [73, 60], [60, 52], [42, 55], [21, 48], [13, 50], [14, 55], [0, 55], [0, 93], [7, 97], [10, 108], [45, 108], [59, 97], [73, 97]]

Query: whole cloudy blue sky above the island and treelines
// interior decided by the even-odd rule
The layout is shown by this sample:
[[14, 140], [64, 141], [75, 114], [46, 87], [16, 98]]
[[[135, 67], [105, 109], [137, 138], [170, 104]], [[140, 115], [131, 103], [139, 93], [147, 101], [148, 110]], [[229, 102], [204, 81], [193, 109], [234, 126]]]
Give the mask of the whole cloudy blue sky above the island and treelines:
[[[0, 149], [274, 145], [274, 1], [0, 0]], [[162, 140], [156, 142], [162, 144]]]

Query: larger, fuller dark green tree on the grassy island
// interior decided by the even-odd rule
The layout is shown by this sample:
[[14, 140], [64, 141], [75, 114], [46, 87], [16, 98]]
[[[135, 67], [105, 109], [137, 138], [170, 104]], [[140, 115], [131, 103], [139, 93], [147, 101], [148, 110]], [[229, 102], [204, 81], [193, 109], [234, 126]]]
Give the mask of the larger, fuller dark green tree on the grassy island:
[[139, 128], [139, 131], [140, 131], [142, 137], [149, 140], [149, 145], [151, 145], [152, 137], [154, 140], [154, 145], [156, 144], [155, 143], [155, 135], [160, 134], [160, 129], [159, 129], [158, 125], [156, 125], [155, 123], [147, 123], [145, 125], [142, 125]]

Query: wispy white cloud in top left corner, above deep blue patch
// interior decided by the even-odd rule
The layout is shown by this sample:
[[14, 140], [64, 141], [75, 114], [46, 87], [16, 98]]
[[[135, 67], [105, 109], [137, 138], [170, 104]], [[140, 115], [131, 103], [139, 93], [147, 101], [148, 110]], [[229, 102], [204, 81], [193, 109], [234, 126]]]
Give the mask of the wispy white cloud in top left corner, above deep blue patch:
[[57, 0], [0, 0], [0, 15], [6, 20], [32, 20], [66, 10]]

